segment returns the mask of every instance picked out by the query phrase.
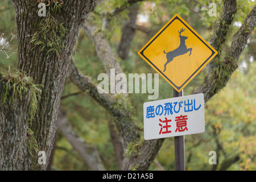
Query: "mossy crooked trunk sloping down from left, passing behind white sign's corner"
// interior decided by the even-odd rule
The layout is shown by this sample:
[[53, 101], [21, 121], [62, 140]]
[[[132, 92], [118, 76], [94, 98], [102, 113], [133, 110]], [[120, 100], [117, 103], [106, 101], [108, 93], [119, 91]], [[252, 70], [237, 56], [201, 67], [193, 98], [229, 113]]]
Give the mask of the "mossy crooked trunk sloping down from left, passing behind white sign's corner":
[[[131, 155], [126, 155], [123, 159], [122, 169], [133, 169], [134, 164], [139, 164], [137, 167], [138, 170], [148, 169], [158, 154], [164, 139], [144, 140], [142, 143], [138, 144], [141, 129], [138, 129], [132, 122], [133, 119], [131, 118], [130, 110], [127, 109], [126, 106], [129, 104], [129, 101], [123, 101], [122, 98], [117, 99], [112, 94], [98, 93], [97, 86], [93, 83], [91, 78], [82, 75], [73, 60], [71, 60], [69, 64], [69, 79], [73, 84], [88, 93], [98, 104], [109, 111], [112, 119], [110, 124], [113, 123], [115, 131], [119, 133], [119, 140], [122, 142], [123, 151], [126, 151], [129, 145], [137, 146], [138, 152], [131, 152]], [[110, 130], [112, 130], [111, 127]], [[151, 148], [154, 148], [154, 150], [151, 150]], [[122, 155], [124, 154], [119, 154], [119, 156]]]

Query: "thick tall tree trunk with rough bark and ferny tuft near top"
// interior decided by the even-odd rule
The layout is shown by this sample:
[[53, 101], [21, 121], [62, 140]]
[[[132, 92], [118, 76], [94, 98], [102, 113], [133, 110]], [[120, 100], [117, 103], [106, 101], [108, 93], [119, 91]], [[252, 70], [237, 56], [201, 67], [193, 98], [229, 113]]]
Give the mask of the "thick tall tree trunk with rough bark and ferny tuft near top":
[[[31, 76], [35, 84], [42, 85], [42, 94], [31, 129], [38, 142], [38, 150], [45, 151], [47, 156], [46, 165], [37, 164], [34, 169], [46, 169], [57, 130], [60, 97], [69, 59], [79, 30], [94, 9], [95, 3], [94, 0], [64, 1], [63, 5], [58, 3], [56, 7], [59, 9], [56, 9], [51, 1], [51, 5], [46, 6], [46, 17], [38, 15], [38, 4], [35, 0], [13, 0], [18, 38], [18, 69]], [[26, 110], [22, 112], [24, 111]], [[2, 114], [8, 113], [3, 110]], [[4, 118], [3, 120], [1, 118], [1, 123], [5, 121]], [[17, 123], [19, 127], [26, 128], [26, 122], [18, 122], [20, 122]], [[3, 132], [6, 133], [9, 129]], [[20, 138], [18, 134], [16, 137]], [[3, 140], [10, 139], [3, 138]], [[20, 146], [22, 144], [20, 142], [22, 141], [18, 140], [13, 144]], [[3, 152], [3, 158], [10, 157], [7, 156], [7, 152]], [[13, 162], [15, 163], [18, 161]], [[20, 165], [15, 169], [28, 169], [28, 167]]]

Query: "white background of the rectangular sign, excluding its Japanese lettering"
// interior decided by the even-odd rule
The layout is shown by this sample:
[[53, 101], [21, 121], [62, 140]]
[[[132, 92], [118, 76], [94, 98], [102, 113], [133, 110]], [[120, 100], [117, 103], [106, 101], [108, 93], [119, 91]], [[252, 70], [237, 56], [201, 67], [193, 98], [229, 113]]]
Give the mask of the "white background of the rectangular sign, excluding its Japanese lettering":
[[[198, 110], [193, 110], [189, 112], [184, 111], [184, 101], [195, 99], [196, 106], [200, 106]], [[174, 113], [174, 102], [179, 103], [180, 101], [183, 101], [183, 105], [181, 107], [181, 110], [179, 113]], [[147, 107], [148, 106], [158, 106], [162, 105], [164, 106], [164, 103], [172, 102], [172, 111], [173, 114], [157, 116], [155, 114], [154, 118], [146, 118], [147, 117]], [[187, 119], [187, 128], [188, 130], [182, 131], [182, 132], [175, 132], [176, 129], [176, 122], [175, 117], [180, 115], [188, 115]], [[165, 125], [165, 123], [161, 123], [159, 121], [159, 118], [162, 119], [162, 121], [165, 120], [165, 117], [167, 119], [171, 119], [171, 122], [168, 122], [168, 125], [171, 125], [171, 133], [166, 134], [159, 134], [160, 126], [159, 123], [162, 124], [162, 126]], [[143, 118], [144, 118], [144, 139], [150, 140], [150, 139], [159, 139], [159, 138], [168, 138], [168, 137], [176, 137], [181, 135], [191, 135], [191, 134], [197, 134], [197, 133], [204, 133], [205, 131], [205, 117], [204, 117], [204, 94], [193, 94], [189, 96], [182, 96], [182, 97], [174, 97], [174, 98], [167, 98], [164, 100], [158, 100], [158, 101], [151, 101], [151, 102], [144, 102], [143, 104]]]

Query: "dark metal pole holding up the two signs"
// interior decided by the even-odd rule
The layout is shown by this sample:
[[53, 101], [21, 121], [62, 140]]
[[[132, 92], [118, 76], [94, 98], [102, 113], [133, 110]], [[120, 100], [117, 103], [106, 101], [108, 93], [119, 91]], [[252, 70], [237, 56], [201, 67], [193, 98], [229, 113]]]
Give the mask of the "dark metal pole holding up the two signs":
[[[183, 96], [183, 90], [177, 92], [174, 89], [174, 97]], [[174, 150], [175, 150], [175, 170], [176, 171], [185, 171], [185, 142], [184, 135], [174, 137]]]

